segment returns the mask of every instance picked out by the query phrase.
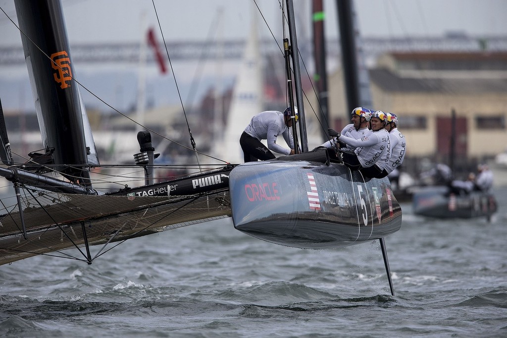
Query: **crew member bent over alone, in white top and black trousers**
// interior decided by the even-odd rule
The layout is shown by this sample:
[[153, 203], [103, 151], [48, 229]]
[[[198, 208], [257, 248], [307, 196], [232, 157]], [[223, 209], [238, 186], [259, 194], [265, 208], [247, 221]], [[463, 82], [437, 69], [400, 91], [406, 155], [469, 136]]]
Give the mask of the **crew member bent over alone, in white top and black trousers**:
[[[298, 108], [295, 107], [294, 110], [294, 115], [291, 112], [291, 107], [287, 107], [283, 113], [265, 111], [252, 117], [239, 138], [245, 163], [274, 159], [275, 155], [271, 151], [285, 155], [294, 154], [294, 138], [291, 128], [293, 120], [298, 121]], [[276, 144], [276, 138], [280, 134], [291, 149]], [[261, 140], [267, 141], [267, 148]]]

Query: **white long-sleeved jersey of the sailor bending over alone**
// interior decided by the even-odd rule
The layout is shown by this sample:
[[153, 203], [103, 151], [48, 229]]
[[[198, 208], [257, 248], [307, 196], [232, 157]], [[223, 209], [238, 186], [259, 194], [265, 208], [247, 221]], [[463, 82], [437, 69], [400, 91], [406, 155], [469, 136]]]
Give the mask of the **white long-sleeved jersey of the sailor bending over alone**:
[[[259, 113], [252, 117], [244, 131], [259, 141], [266, 140], [268, 149], [275, 153], [290, 155], [291, 149], [294, 149], [292, 132], [285, 124], [282, 112], [272, 110]], [[291, 149], [286, 149], [276, 144], [276, 138], [280, 134], [285, 142], [291, 145]]]

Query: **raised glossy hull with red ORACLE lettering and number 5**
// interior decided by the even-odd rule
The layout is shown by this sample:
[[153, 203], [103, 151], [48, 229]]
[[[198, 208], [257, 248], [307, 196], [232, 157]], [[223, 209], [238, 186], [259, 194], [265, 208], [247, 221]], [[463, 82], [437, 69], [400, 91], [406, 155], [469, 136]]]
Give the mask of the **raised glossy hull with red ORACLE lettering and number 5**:
[[402, 211], [389, 180], [364, 180], [343, 164], [271, 161], [230, 175], [234, 227], [285, 246], [322, 249], [397, 231]]

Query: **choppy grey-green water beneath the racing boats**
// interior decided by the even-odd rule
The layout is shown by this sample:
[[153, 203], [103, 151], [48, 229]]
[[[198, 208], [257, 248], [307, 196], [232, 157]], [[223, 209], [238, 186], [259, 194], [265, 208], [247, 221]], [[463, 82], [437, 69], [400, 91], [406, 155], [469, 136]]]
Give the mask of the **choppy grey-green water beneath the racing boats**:
[[395, 296], [378, 241], [286, 248], [226, 219], [129, 240], [92, 265], [0, 266], [0, 336], [507, 336], [507, 189], [495, 193], [492, 223], [402, 205], [385, 240]]

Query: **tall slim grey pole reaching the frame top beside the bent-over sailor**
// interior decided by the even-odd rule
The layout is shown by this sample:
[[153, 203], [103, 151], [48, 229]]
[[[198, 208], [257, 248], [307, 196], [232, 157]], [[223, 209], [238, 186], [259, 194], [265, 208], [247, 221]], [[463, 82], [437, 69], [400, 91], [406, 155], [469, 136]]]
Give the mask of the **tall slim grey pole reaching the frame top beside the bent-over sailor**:
[[286, 4], [287, 4], [289, 39], [291, 40], [291, 49], [292, 49], [292, 63], [294, 67], [294, 85], [296, 87], [296, 103], [298, 107], [298, 115], [300, 121], [299, 133], [301, 137], [301, 150], [303, 152], [307, 152], [308, 138], [306, 136], [305, 108], [303, 105], [303, 89], [301, 86], [301, 71], [299, 68], [299, 50], [298, 50], [298, 39], [296, 35], [296, 23], [294, 16], [293, 0], [286, 0]]

